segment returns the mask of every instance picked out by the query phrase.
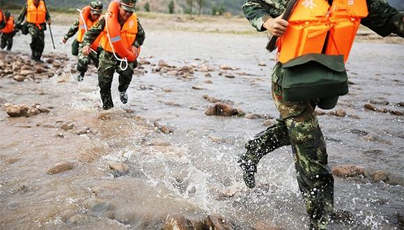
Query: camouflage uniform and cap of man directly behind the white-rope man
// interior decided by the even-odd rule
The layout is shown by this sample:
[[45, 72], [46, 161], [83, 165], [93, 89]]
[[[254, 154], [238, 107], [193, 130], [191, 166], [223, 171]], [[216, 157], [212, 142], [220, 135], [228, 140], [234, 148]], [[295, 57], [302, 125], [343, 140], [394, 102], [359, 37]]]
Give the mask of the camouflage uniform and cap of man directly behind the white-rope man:
[[[90, 4], [91, 8], [98, 8], [98, 12], [92, 11], [92, 13], [100, 14], [102, 13], [102, 3], [100, 1], [92, 1]], [[77, 19], [72, 26], [70, 26], [68, 33], [63, 36], [65, 40], [68, 40], [72, 36], [79, 31], [79, 19]], [[78, 62], [77, 62], [77, 71], [79, 71], [79, 76], [77, 79], [79, 81], [83, 80], [84, 74], [87, 72], [88, 65], [91, 61], [94, 63], [94, 66], [98, 68], [98, 53], [90, 52], [88, 56], [85, 56], [81, 51], [83, 50], [83, 44], [79, 43], [79, 54], [78, 54]], [[95, 50], [97, 51], [97, 50]]]

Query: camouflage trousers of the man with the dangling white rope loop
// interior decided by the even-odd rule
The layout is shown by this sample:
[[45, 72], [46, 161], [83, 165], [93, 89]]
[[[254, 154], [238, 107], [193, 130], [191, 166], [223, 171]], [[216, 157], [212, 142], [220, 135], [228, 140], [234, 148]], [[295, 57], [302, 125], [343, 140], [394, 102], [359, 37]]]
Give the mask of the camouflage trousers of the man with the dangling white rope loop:
[[100, 49], [100, 63], [98, 64], [98, 86], [100, 86], [100, 95], [102, 100], [102, 108], [110, 109], [114, 107], [111, 96], [111, 85], [114, 72], [119, 75], [118, 91], [126, 92], [132, 81], [133, 69], [137, 67], [137, 61], [127, 63], [127, 69], [121, 70], [120, 61], [117, 61], [114, 54]]

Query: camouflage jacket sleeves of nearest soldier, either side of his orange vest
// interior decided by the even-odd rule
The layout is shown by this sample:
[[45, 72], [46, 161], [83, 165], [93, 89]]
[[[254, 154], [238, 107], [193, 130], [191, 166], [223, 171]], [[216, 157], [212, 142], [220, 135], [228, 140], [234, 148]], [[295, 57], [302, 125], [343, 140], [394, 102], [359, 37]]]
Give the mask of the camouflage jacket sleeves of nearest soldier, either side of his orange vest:
[[[266, 20], [278, 17], [285, 11], [288, 0], [247, 0], [242, 6], [244, 15], [257, 31], [265, 31], [263, 24]], [[389, 6], [386, 0], [366, 0], [368, 16], [361, 24], [375, 31], [380, 36], [396, 33], [404, 37], [404, 12]]]

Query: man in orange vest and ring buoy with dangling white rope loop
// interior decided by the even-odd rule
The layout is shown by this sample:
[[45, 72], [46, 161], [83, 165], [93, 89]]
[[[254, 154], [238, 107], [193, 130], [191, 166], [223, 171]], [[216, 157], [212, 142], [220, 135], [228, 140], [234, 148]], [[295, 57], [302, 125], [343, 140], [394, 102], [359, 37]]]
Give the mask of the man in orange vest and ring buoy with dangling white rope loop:
[[102, 109], [114, 107], [111, 84], [114, 72], [119, 74], [118, 91], [123, 104], [127, 103], [126, 90], [132, 80], [133, 69], [137, 67], [140, 46], [146, 38], [135, 11], [135, 0], [111, 1], [106, 16], [100, 18], [84, 34], [84, 55], [90, 54], [91, 47], [100, 38], [100, 63], [98, 66], [98, 86]]

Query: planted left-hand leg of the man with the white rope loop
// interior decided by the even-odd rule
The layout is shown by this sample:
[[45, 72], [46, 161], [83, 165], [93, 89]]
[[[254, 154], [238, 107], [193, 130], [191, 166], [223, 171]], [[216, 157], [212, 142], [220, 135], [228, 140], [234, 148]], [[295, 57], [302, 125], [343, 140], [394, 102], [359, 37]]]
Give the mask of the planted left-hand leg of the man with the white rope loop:
[[100, 86], [100, 95], [102, 100], [102, 109], [111, 109], [114, 107], [111, 96], [111, 84], [116, 68], [116, 61], [104, 50], [100, 54], [100, 66], [98, 66], [98, 86]]

